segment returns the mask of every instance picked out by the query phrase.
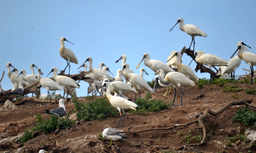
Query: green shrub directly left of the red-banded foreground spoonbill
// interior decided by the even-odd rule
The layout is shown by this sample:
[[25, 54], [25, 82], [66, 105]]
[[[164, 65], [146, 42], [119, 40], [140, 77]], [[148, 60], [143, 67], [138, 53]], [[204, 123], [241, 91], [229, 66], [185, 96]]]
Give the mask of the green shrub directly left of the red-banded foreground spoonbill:
[[93, 119], [106, 119], [109, 116], [117, 116], [118, 112], [107, 98], [96, 98], [92, 102], [82, 103], [73, 99], [76, 108], [76, 116], [79, 120], [90, 121]]

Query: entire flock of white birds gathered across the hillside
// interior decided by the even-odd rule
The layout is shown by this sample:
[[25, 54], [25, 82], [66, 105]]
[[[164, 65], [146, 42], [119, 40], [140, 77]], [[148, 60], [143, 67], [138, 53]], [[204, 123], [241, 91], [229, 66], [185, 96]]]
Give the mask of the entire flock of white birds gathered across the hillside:
[[[189, 34], [190, 36], [192, 36], [192, 42], [194, 42], [194, 48], [195, 48], [195, 36], [207, 37], [207, 34], [204, 33], [204, 31], [202, 31], [197, 26], [189, 25], [189, 24], [183, 26], [184, 20], [182, 18], [179, 18], [177, 20], [177, 23], [180, 23], [180, 26], [179, 26], [180, 30], [182, 30], [182, 31], [186, 32], [187, 34]], [[177, 25], [177, 23], [175, 25]], [[173, 26], [170, 29], [170, 31], [172, 31], [172, 29], [174, 27], [175, 26]], [[75, 54], [70, 49], [65, 48], [64, 41], [67, 41], [67, 39], [64, 37], [61, 37], [60, 38], [61, 48], [60, 48], [59, 52], [61, 54], [61, 57], [63, 57], [64, 59], [67, 60], [66, 68], [69, 66], [69, 72], [70, 72], [70, 62], [78, 64], [78, 60], [77, 60]], [[67, 41], [67, 42], [69, 42], [69, 41]], [[189, 49], [192, 45], [192, 42], [189, 46]], [[210, 71], [212, 71], [211, 68], [213, 67], [216, 70], [216, 74], [220, 74], [221, 77], [223, 77], [223, 78], [227, 78], [226, 73], [231, 74], [232, 80], [235, 80], [236, 68], [239, 67], [239, 65], [241, 64], [241, 60], [243, 60], [244, 62], [248, 63], [250, 66], [250, 69], [251, 69], [251, 82], [250, 83], [252, 84], [253, 83], [252, 78], [253, 78], [253, 72], [254, 72], [253, 65], [256, 65], [256, 54], [253, 54], [250, 52], [243, 52], [244, 50], [248, 51], [248, 49], [245, 46], [249, 47], [248, 45], [244, 44], [244, 42], [239, 42], [237, 44], [237, 46], [238, 46], [238, 48], [236, 51], [238, 51], [238, 54], [233, 59], [231, 59], [229, 62], [227, 62], [226, 59], [222, 59], [221, 57], [218, 57], [217, 55], [205, 54], [203, 51], [200, 51], [200, 50], [195, 51], [195, 56], [193, 59], [195, 59], [195, 61], [198, 63], [207, 65], [210, 68]], [[235, 51], [235, 53], [236, 53], [236, 51]], [[232, 58], [234, 56], [234, 54], [230, 58]], [[93, 66], [92, 66], [93, 59], [91, 57], [87, 57], [85, 62], [79, 68], [84, 67], [83, 71], [86, 71], [86, 69], [88, 67], [86, 62], [87, 61], [89, 62], [89, 69], [90, 69], [91, 73], [84, 76], [86, 78], [86, 79], [84, 79], [84, 81], [88, 82], [90, 85], [88, 88], [88, 93], [92, 92], [92, 91], [94, 91], [94, 92], [99, 91], [99, 93], [101, 95], [107, 96], [111, 105], [119, 111], [120, 119], [119, 119], [118, 124], [116, 125], [116, 127], [119, 127], [119, 126], [123, 126], [123, 122], [125, 119], [125, 111], [124, 110], [128, 110], [128, 109], [136, 110], [137, 105], [134, 102], [137, 97], [137, 91], [139, 91], [139, 96], [141, 96], [141, 94], [140, 94], [141, 91], [149, 90], [149, 91], [151, 91], [151, 93], [154, 93], [154, 92], [156, 92], [158, 83], [160, 84], [160, 86], [167, 88], [167, 91], [169, 90], [169, 93], [170, 93], [171, 87], [172, 86], [174, 87], [175, 96], [174, 96], [174, 99], [172, 102], [173, 106], [174, 106], [175, 97], [176, 97], [176, 87], [178, 86], [180, 88], [180, 93], [181, 93], [180, 105], [183, 105], [182, 98], [184, 95], [183, 93], [184, 93], [185, 86], [194, 86], [195, 83], [198, 82], [199, 78], [195, 75], [194, 71], [189, 66], [181, 63], [181, 61], [182, 61], [181, 57], [182, 57], [182, 55], [179, 52], [172, 51], [171, 55], [167, 58], [168, 60], [165, 64], [162, 61], [159, 61], [156, 59], [150, 59], [150, 55], [148, 53], [143, 54], [143, 59], [140, 61], [140, 63], [137, 65], [136, 68], [139, 68], [141, 62], [143, 62], [143, 60], [144, 60], [144, 64], [148, 68], [150, 68], [152, 71], [154, 71], [155, 74], [157, 74], [157, 76], [155, 77], [156, 83], [155, 83], [153, 89], [148, 85], [147, 81], [143, 78], [143, 72], [145, 72], [145, 69], [141, 68], [140, 75], [135, 74], [134, 71], [132, 71], [130, 69], [130, 65], [128, 63], [126, 63], [127, 57], [124, 54], [120, 57], [120, 59], [118, 59], [116, 61], [116, 62], [118, 62], [119, 60], [122, 59], [122, 69], [117, 70], [115, 77], [111, 77], [108, 74], [107, 71], [109, 71], [109, 68], [104, 63], [99, 64], [99, 69], [93, 68]], [[102, 68], [103, 66], [105, 66], [105, 67]], [[217, 69], [217, 68], [215, 68], [215, 66], [220, 66], [220, 68]], [[49, 91], [55, 91], [55, 90], [62, 91], [62, 89], [64, 89], [64, 95], [63, 95], [63, 98], [64, 98], [65, 91], [67, 93], [67, 96], [70, 93], [73, 93], [76, 96], [76, 88], [80, 88], [80, 85], [76, 81], [71, 79], [70, 77], [57, 75], [58, 68], [55, 68], [55, 67], [53, 67], [52, 70], [50, 71], [50, 73], [53, 72], [53, 74], [52, 74], [53, 79], [42, 78], [41, 74], [43, 74], [43, 73], [41, 72], [40, 68], [38, 68], [38, 75], [35, 75], [33, 68], [36, 66], [33, 63], [30, 65], [32, 74], [26, 75], [26, 71], [21, 70], [20, 74], [22, 74], [22, 77], [20, 76], [20, 74], [19, 75], [17, 74], [17, 69], [14, 68], [11, 63], [8, 62], [6, 64], [6, 67], [8, 69], [8, 76], [13, 84], [12, 91], [15, 91], [18, 88], [19, 82], [23, 82], [23, 84], [29, 85], [29, 84], [39, 81], [41, 86], [47, 89], [48, 96], [50, 96]], [[10, 67], [14, 68], [13, 72], [10, 70]], [[64, 69], [64, 71], [66, 70], [66, 68]], [[173, 68], [177, 69], [178, 72], [173, 70]], [[145, 73], [147, 74], [147, 72], [145, 72]], [[216, 74], [214, 76], [212, 76], [212, 73], [210, 73], [209, 84], [212, 82], [212, 80], [216, 76]], [[124, 76], [125, 82], [123, 82], [121, 75]], [[131, 85], [133, 88], [131, 88]], [[181, 89], [181, 86], [184, 86], [183, 91]], [[112, 91], [114, 91], [116, 93], [116, 96], [111, 95]], [[167, 95], [167, 91], [164, 94], [164, 96]], [[129, 101], [127, 99], [127, 97], [122, 95], [123, 93], [128, 93], [128, 92], [133, 92], [135, 94], [134, 102]], [[38, 90], [35, 94], [39, 95], [40, 90]], [[47, 98], [48, 98], [48, 96], [47, 96]], [[62, 101], [63, 101], [63, 99], [62, 99]], [[60, 102], [60, 107], [64, 107], [64, 110], [65, 110], [64, 103], [62, 105], [62, 103]], [[49, 111], [47, 111], [47, 112], [49, 112]], [[122, 113], [123, 113], [124, 117], [123, 117], [122, 124], [119, 125], [119, 123], [122, 119]], [[108, 129], [108, 131], [107, 132], [105, 131], [104, 133], [105, 133], [105, 137], [111, 139], [111, 142], [112, 142], [112, 140], [122, 139], [122, 136], [120, 134], [116, 134], [118, 132], [119, 132], [119, 130]], [[108, 134], [108, 133], [110, 133], [110, 134]], [[114, 134], [111, 135], [111, 133], [112, 134], [114, 133], [116, 135], [116, 137], [113, 138]]]

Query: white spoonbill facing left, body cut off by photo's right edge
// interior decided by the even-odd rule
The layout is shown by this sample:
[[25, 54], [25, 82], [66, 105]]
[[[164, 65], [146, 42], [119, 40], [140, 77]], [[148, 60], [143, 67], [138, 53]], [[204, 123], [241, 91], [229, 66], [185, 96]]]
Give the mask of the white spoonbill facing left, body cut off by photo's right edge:
[[244, 42], [241, 42], [241, 41], [238, 42], [237, 49], [230, 58], [232, 58], [236, 54], [236, 52], [239, 50], [237, 53], [238, 57], [242, 59], [244, 62], [246, 62], [247, 64], [249, 64], [250, 66], [250, 70], [251, 70], [250, 84], [253, 84], [253, 75], [254, 75], [253, 66], [256, 65], [256, 54], [250, 53], [250, 52], [243, 52], [244, 50], [248, 51], [248, 49], [245, 46], [250, 48], [250, 46], [246, 45]]

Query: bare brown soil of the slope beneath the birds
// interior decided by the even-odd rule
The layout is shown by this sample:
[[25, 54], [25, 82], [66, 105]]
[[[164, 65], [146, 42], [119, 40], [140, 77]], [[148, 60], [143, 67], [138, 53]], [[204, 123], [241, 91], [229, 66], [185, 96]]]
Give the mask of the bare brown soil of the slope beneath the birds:
[[[231, 85], [231, 84], [227, 84]], [[233, 84], [232, 84], [233, 85]], [[131, 128], [131, 132], [138, 130], [145, 130], [151, 128], [162, 128], [171, 127], [175, 124], [186, 124], [188, 122], [194, 121], [195, 116], [203, 113], [206, 108], [210, 108], [213, 111], [218, 111], [221, 107], [226, 105], [228, 102], [239, 100], [241, 98], [251, 98], [253, 99], [252, 105], [256, 106], [256, 96], [246, 94], [245, 90], [248, 88], [256, 88], [256, 85], [244, 85], [236, 84], [238, 88], [243, 88], [243, 91], [237, 93], [229, 92], [222, 93], [224, 86], [219, 85], [204, 85], [204, 88], [198, 89], [197, 86], [190, 88], [190, 95], [188, 95], [187, 88], [185, 89], [185, 94], [183, 96], [182, 106], [169, 107], [167, 109], [161, 110], [159, 112], [152, 113], [126, 113], [124, 127], [119, 127], [119, 130], [127, 131], [128, 127]], [[204, 91], [204, 96], [194, 100], [193, 98], [201, 94]], [[167, 96], [162, 96], [165, 94], [166, 88], [161, 88], [161, 91], [157, 89], [157, 93], [153, 94], [153, 98], [162, 99], [164, 102], [172, 102], [174, 97], [174, 90], [172, 88], [171, 94]], [[239, 99], [232, 97], [239, 96]], [[133, 98], [134, 94], [126, 94], [129, 98]], [[142, 92], [142, 97], [145, 96], [145, 92]], [[77, 98], [80, 102], [87, 102], [84, 98]], [[90, 99], [93, 100], [93, 99]], [[177, 90], [177, 96], [175, 99], [175, 104], [180, 104], [180, 91]], [[3, 103], [0, 104], [0, 107]], [[69, 102], [66, 105], [67, 113], [74, 110], [74, 103]], [[45, 109], [51, 109], [58, 107], [58, 104], [44, 103], [39, 104], [36, 102], [28, 101], [24, 105], [17, 106], [17, 109], [12, 111], [0, 111], [0, 134], [8, 129], [6, 137], [16, 136], [22, 134], [25, 128], [31, 125], [35, 126], [35, 115], [40, 112], [44, 112]], [[225, 145], [224, 138], [226, 136], [236, 136], [237, 134], [244, 134], [247, 128], [251, 130], [256, 130], [255, 127], [249, 126], [245, 127], [242, 123], [237, 123], [233, 121], [233, 115], [241, 106], [232, 106], [228, 108], [223, 113], [218, 116], [208, 115], [208, 118], [204, 119], [204, 125], [206, 127], [207, 133], [212, 133], [212, 136], [207, 136], [206, 144], [201, 146], [195, 146], [198, 150], [204, 153], [217, 153], [219, 151], [225, 151], [225, 153], [248, 153], [248, 145], [250, 142], [246, 142], [245, 145], [237, 144], [238, 150], [235, 147], [227, 147]], [[250, 110], [255, 111], [253, 108]], [[41, 113], [43, 118], [49, 118], [49, 115]], [[71, 128], [68, 130], [61, 130], [57, 135], [55, 133], [48, 134], [47, 136], [36, 137], [29, 142], [23, 144], [27, 148], [31, 147], [29, 150], [31, 153], [38, 153], [40, 149], [47, 150], [48, 152], [56, 148], [55, 142], [52, 140], [57, 140], [58, 145], [62, 147], [69, 147], [66, 153], [87, 153], [87, 152], [117, 152], [117, 153], [168, 153], [175, 152], [177, 147], [181, 147], [186, 144], [182, 141], [182, 136], [177, 135], [182, 131], [183, 135], [192, 136], [201, 135], [203, 136], [202, 129], [196, 129], [198, 123], [195, 123], [189, 127], [177, 127], [172, 130], [159, 130], [159, 131], [147, 131], [143, 133], [138, 133], [135, 135], [125, 135], [128, 137], [127, 141], [116, 142], [117, 147], [108, 147], [110, 140], [101, 141], [98, 139], [99, 133], [102, 133], [104, 125], [108, 124], [111, 127], [116, 126], [119, 117], [110, 117], [105, 120], [93, 120], [90, 122], [81, 121], [76, 128]], [[55, 138], [57, 137], [57, 138]], [[3, 139], [1, 137], [1, 139]], [[1, 140], [0, 139], [0, 140]], [[198, 144], [195, 140], [192, 140], [190, 144]], [[14, 147], [4, 148], [3, 150], [15, 150]], [[187, 150], [187, 148], [186, 148]], [[0, 150], [2, 151], [2, 150]], [[65, 152], [65, 151], [63, 151]]]

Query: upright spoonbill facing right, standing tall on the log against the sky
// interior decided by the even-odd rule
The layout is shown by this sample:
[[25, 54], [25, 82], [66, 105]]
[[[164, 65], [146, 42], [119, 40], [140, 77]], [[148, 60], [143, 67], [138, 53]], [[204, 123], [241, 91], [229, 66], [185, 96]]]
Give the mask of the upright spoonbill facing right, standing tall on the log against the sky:
[[[67, 66], [69, 65], [68, 75], [70, 75], [70, 62], [78, 64], [78, 59], [76, 58], [73, 51], [71, 51], [68, 48], [65, 48], [64, 41], [67, 41], [66, 38], [61, 37], [60, 38], [61, 48], [60, 48], [59, 52], [61, 54], [61, 57], [67, 60]], [[67, 41], [67, 42], [69, 42], [69, 41]], [[72, 43], [72, 42], [70, 42], [70, 43]], [[75, 44], [73, 44], [73, 45], [75, 45]], [[66, 68], [67, 68], [67, 66], [66, 66]], [[65, 72], [66, 68], [63, 70], [64, 72]]]

